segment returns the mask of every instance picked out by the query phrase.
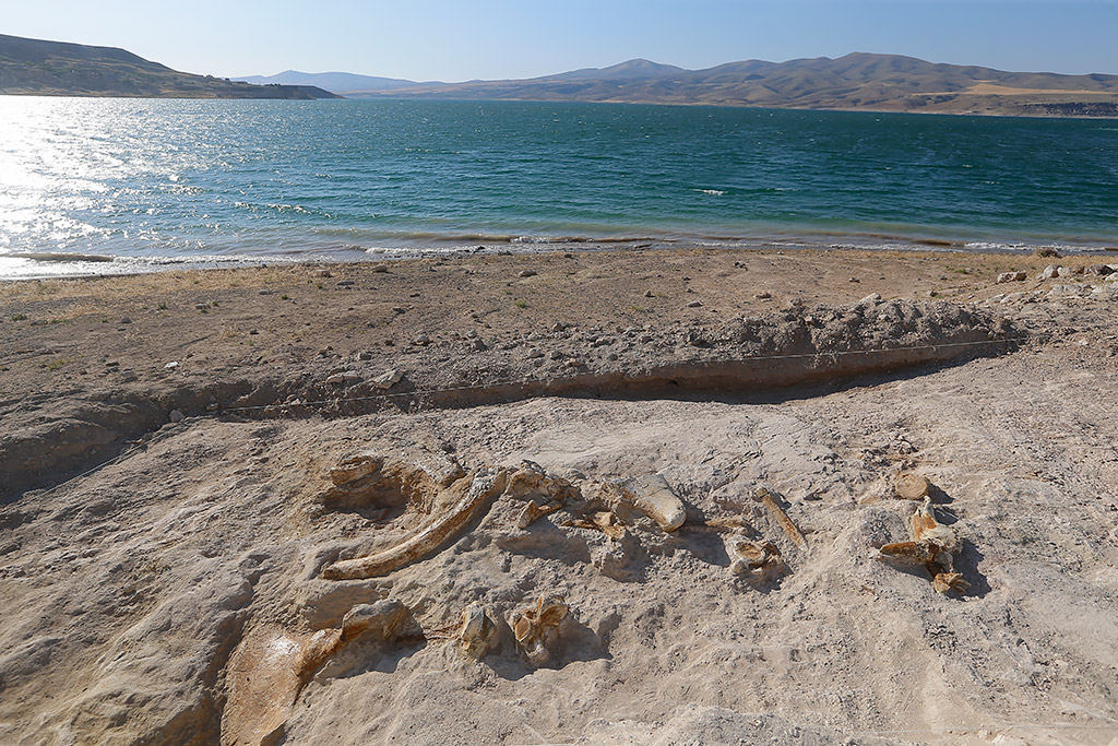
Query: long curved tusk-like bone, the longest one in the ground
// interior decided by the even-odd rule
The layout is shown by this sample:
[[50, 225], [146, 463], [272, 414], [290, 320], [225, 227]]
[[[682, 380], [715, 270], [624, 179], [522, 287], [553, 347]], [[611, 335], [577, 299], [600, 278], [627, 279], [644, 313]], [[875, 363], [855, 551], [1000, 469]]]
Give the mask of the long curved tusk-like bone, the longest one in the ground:
[[491, 498], [504, 488], [506, 478], [505, 470], [463, 476], [438, 495], [438, 503], [449, 504], [423, 530], [383, 551], [329, 565], [322, 570], [322, 577], [330, 580], [379, 577], [425, 557], [487, 508]]

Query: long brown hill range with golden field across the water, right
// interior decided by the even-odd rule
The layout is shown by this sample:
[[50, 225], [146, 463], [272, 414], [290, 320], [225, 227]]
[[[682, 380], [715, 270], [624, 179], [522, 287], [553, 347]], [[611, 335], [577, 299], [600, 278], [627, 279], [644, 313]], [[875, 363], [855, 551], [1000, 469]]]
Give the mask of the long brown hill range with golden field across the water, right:
[[774, 108], [1118, 117], [1118, 76], [1007, 73], [854, 53], [686, 70], [634, 59], [523, 81], [415, 85], [354, 96], [714, 104]]

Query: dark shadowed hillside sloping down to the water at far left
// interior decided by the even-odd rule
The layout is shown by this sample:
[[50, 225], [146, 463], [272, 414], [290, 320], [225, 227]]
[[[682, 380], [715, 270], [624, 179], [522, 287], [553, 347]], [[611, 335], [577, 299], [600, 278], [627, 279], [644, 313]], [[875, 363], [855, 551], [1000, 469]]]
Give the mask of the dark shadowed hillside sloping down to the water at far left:
[[314, 86], [258, 86], [179, 73], [124, 49], [0, 35], [0, 94], [165, 98], [338, 98]]

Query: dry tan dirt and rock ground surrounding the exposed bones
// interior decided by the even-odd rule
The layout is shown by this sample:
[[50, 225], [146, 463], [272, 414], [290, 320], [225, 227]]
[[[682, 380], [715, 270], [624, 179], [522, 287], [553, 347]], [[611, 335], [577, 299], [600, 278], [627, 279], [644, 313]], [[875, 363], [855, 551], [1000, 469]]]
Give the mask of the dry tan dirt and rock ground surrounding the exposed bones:
[[[1099, 264], [586, 252], [0, 285], [0, 742], [1116, 744]], [[360, 454], [380, 471], [337, 471]], [[882, 559], [920, 504], [901, 473], [969, 587]], [[678, 529], [633, 502], [648, 474]], [[736, 573], [741, 541], [771, 563]]]

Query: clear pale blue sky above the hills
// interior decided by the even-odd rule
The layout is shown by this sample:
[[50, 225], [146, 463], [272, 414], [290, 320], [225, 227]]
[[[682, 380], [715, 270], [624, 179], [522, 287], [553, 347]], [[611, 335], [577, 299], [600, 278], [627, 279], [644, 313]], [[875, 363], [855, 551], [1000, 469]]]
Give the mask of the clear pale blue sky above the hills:
[[0, 0], [0, 32], [218, 76], [531, 77], [849, 51], [1118, 74], [1118, 0]]

